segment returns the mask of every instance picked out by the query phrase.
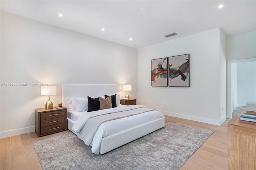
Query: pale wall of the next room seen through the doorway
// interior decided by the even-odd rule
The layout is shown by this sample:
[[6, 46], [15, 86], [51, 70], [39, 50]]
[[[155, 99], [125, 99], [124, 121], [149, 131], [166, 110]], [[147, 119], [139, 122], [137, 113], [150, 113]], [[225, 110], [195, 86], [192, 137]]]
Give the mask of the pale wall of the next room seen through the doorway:
[[256, 103], [256, 61], [237, 63], [237, 103]]

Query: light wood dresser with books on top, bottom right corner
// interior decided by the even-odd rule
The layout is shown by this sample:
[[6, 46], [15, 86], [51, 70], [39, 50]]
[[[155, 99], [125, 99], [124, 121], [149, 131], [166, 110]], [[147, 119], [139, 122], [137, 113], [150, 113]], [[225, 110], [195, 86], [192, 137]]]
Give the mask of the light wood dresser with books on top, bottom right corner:
[[240, 121], [241, 107], [228, 123], [228, 169], [256, 170], [256, 123]]

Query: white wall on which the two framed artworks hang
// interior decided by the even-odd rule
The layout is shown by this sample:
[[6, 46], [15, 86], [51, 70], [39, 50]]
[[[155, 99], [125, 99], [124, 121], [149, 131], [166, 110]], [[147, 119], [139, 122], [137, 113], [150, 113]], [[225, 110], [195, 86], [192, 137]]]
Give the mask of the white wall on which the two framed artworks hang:
[[[220, 113], [225, 106], [225, 101], [220, 100], [225, 95], [221, 94], [221, 88], [225, 87], [220, 71], [225, 66], [220, 63], [225, 51], [220, 52], [220, 36], [223, 36], [220, 34], [216, 28], [138, 49], [138, 104], [158, 109], [165, 115], [221, 125], [226, 115], [222, 117]], [[190, 87], [151, 86], [151, 59], [187, 53], [190, 54]], [[223, 55], [221, 59], [220, 55]]]

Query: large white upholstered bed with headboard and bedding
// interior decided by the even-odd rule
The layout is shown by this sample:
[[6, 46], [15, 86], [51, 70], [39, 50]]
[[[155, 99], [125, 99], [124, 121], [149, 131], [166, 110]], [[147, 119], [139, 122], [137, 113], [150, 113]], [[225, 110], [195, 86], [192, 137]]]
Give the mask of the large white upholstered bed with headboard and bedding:
[[[112, 96], [116, 93], [117, 85], [114, 84], [62, 85], [62, 103], [64, 107], [68, 108], [68, 129], [76, 134], [78, 138], [84, 140], [86, 145], [92, 146], [92, 153], [94, 154], [104, 154], [164, 127], [164, 115], [162, 115], [162, 113], [140, 105], [120, 105], [119, 94], [116, 95], [117, 107], [103, 109], [100, 111], [88, 112], [81, 111], [79, 108], [74, 110], [74, 103], [70, 103], [70, 99], [84, 99], [88, 96], [92, 98], [96, 98], [98, 96], [104, 98], [104, 95]], [[92, 140], [89, 140], [92, 142], [88, 143], [86, 135], [88, 135], [88, 133], [91, 135], [90, 133], [92, 133], [90, 130], [86, 129], [86, 126], [90, 126], [87, 125], [89, 124], [88, 120], [96, 118], [95, 115], [98, 115], [98, 117], [105, 117], [105, 115], [120, 116], [120, 113], [127, 113], [128, 115], [132, 115], [127, 117], [120, 117], [119, 119], [109, 119], [110, 121], [105, 121], [104, 123], [100, 124], [99, 127], [94, 127], [97, 130], [93, 133], [94, 136]], [[94, 120], [98, 121], [98, 117]], [[84, 125], [83, 123], [85, 122], [86, 124]], [[122, 126], [120, 129], [119, 125]], [[109, 130], [106, 130], [108, 128]], [[116, 131], [113, 131], [113, 129]]]

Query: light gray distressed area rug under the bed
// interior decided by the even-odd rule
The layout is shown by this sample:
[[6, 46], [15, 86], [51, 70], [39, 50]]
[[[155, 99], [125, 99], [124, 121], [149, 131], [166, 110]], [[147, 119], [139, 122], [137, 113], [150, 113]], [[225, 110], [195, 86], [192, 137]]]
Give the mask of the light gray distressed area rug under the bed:
[[43, 170], [177, 170], [214, 131], [166, 121], [165, 127], [103, 155], [72, 132], [34, 142]]

